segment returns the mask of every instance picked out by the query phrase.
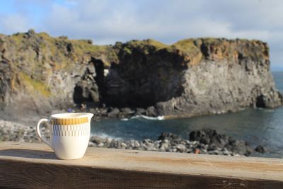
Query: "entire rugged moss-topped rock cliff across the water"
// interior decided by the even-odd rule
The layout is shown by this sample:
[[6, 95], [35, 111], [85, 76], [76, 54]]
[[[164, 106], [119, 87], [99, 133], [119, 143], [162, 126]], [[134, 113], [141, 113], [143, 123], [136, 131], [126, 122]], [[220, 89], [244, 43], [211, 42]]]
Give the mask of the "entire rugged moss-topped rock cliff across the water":
[[275, 108], [282, 95], [270, 74], [269, 48], [258, 40], [98, 46], [33, 30], [0, 35], [2, 110], [41, 113], [81, 103], [188, 117]]

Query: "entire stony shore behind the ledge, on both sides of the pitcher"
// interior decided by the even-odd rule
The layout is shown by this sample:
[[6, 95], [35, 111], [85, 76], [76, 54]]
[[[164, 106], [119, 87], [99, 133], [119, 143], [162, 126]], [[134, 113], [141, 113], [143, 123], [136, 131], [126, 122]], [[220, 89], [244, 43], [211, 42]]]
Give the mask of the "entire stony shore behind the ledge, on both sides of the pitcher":
[[[48, 136], [48, 132], [47, 127], [42, 127], [42, 133], [45, 136]], [[0, 120], [0, 141], [41, 142], [37, 137], [35, 127], [4, 120]], [[156, 140], [144, 139], [143, 141], [92, 136], [88, 146], [227, 156], [250, 156], [254, 151], [265, 152], [264, 147], [258, 146], [253, 149], [248, 142], [208, 129], [192, 131], [188, 134], [187, 139], [172, 133], [162, 133]]]

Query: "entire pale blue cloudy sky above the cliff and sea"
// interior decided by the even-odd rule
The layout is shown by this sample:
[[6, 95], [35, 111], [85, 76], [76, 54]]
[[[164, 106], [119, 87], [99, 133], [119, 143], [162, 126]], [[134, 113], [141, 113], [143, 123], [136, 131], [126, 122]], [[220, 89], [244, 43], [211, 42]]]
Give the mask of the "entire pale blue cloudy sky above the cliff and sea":
[[96, 45], [152, 38], [245, 38], [270, 45], [273, 71], [283, 70], [281, 0], [11, 0], [0, 1], [0, 33], [91, 39]]

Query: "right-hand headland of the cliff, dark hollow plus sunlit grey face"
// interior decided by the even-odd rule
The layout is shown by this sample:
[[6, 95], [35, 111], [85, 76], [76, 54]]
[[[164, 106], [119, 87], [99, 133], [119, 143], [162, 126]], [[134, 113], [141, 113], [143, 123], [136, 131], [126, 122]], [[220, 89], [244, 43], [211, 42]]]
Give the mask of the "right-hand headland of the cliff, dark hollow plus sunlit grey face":
[[109, 105], [189, 117], [282, 104], [265, 42], [196, 39], [167, 46], [134, 40], [114, 48], [119, 60], [105, 77]]

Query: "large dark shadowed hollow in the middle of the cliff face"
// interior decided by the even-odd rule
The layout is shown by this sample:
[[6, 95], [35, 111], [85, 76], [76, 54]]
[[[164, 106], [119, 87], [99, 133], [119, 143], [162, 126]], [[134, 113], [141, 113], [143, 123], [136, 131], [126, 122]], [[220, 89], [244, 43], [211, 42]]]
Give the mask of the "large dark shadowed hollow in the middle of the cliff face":
[[119, 61], [111, 64], [105, 77], [101, 68], [102, 62], [92, 60], [98, 63], [95, 63], [96, 81], [105, 105], [117, 108], [149, 108], [183, 94], [185, 67], [181, 65], [183, 59], [178, 55], [167, 50], [148, 54], [132, 48], [130, 54], [125, 54], [122, 50], [117, 57]]

